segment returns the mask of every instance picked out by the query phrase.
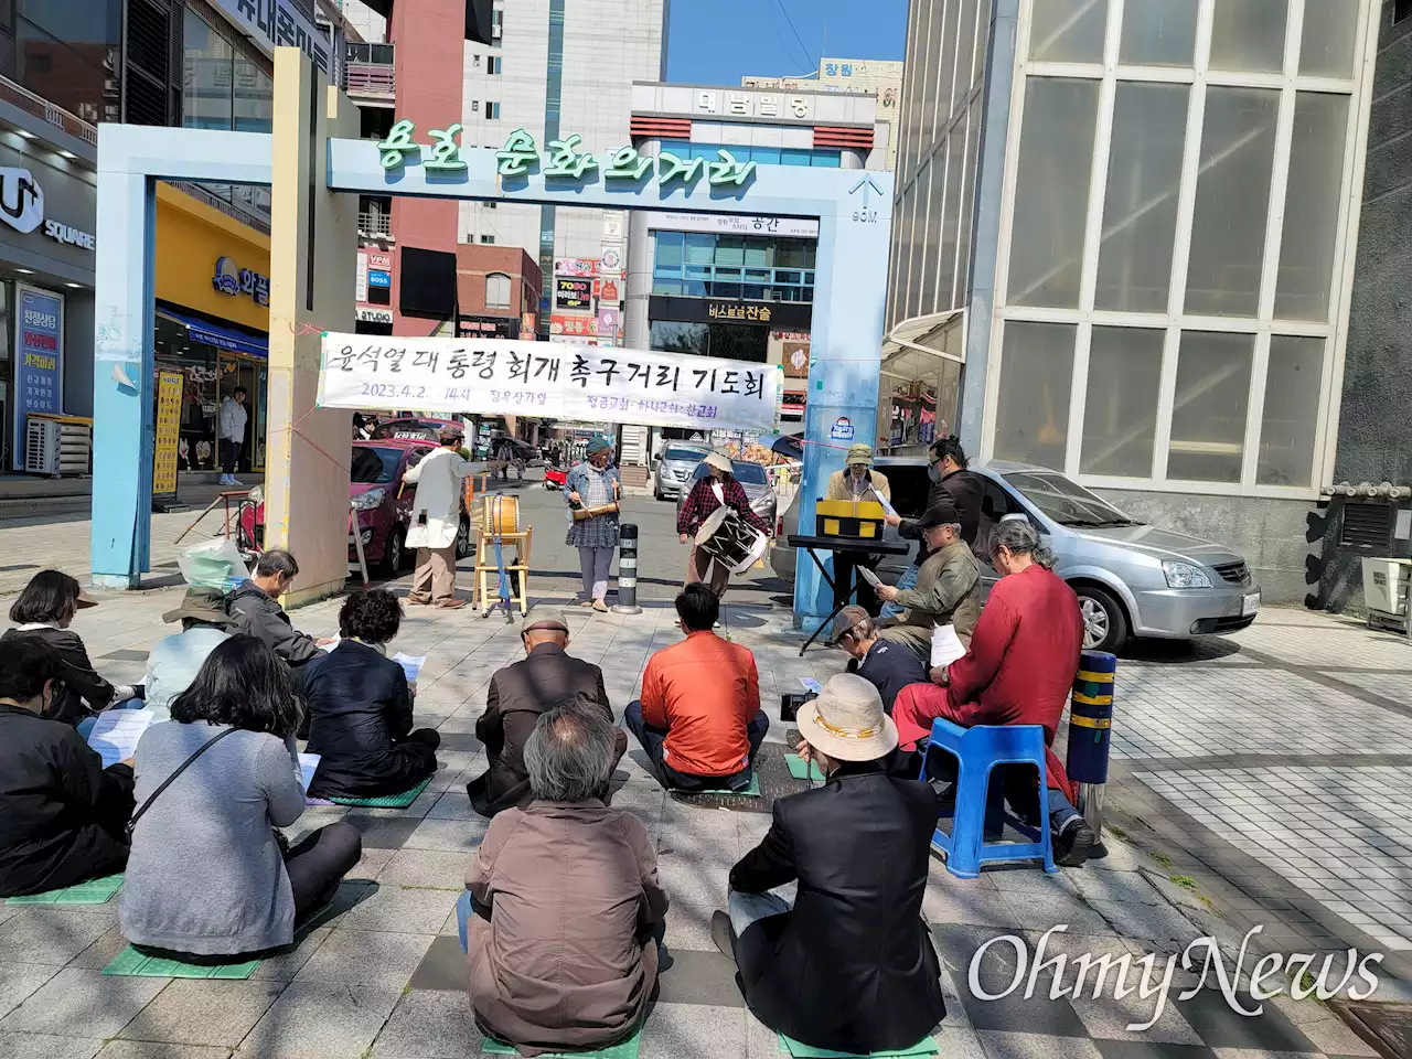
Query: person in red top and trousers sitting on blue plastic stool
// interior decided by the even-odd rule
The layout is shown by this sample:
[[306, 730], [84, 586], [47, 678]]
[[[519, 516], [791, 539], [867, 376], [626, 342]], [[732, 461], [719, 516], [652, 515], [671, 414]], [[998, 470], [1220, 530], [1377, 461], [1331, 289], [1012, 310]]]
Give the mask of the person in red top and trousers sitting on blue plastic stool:
[[[1039, 724], [1045, 743], [1053, 744], [1083, 648], [1079, 597], [1051, 569], [1053, 556], [1029, 522], [997, 525], [990, 549], [1003, 576], [976, 623], [970, 652], [932, 669], [933, 683], [912, 685], [897, 696], [894, 717], [904, 750], [931, 734], [935, 717], [966, 727]], [[1053, 750], [1045, 754], [1045, 778], [1055, 861], [1076, 867], [1094, 836], [1073, 808], [1076, 792]], [[1005, 798], [1024, 815], [1038, 812], [1032, 781], [1007, 777]]]

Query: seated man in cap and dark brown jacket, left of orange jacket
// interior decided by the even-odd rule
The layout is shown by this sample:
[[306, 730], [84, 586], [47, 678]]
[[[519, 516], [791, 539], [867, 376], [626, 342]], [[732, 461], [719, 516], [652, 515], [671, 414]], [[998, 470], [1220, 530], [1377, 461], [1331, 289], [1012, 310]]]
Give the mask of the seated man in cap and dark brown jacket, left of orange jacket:
[[[565, 651], [569, 627], [559, 611], [531, 609], [520, 626], [520, 637], [527, 658], [496, 671], [486, 693], [486, 712], [476, 722], [476, 738], [486, 744], [490, 768], [466, 785], [466, 794], [481, 816], [531, 801], [524, 747], [541, 713], [578, 699], [600, 706], [613, 720], [603, 671]], [[616, 733], [614, 767], [627, 751], [627, 733], [621, 729]]]

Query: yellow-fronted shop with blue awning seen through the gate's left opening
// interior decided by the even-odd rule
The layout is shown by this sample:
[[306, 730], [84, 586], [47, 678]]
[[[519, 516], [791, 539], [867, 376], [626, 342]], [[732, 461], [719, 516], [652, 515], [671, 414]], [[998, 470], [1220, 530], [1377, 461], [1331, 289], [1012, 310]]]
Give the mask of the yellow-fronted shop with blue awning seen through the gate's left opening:
[[220, 401], [237, 385], [249, 394], [237, 470], [264, 469], [268, 277], [268, 236], [157, 185], [154, 346], [157, 371], [182, 374], [181, 470], [219, 469], [216, 418]]

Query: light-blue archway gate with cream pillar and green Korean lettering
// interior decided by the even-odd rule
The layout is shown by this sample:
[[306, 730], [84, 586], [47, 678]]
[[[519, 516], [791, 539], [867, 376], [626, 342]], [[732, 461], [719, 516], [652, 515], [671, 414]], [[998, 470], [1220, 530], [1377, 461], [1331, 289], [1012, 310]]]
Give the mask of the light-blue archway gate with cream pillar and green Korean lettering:
[[[318, 407], [316, 395], [322, 333], [354, 329], [360, 193], [816, 219], [801, 486], [801, 525], [813, 525], [815, 501], [843, 465], [842, 433], [856, 429], [866, 441], [874, 431], [891, 174], [733, 168], [726, 160], [714, 171], [678, 172], [669, 160], [623, 151], [580, 167], [522, 143], [515, 164], [507, 160], [513, 144], [498, 152], [460, 150], [452, 137], [429, 136], [393, 151], [357, 131], [357, 109], [298, 48], [275, 49], [271, 133], [99, 127], [96, 586], [137, 587], [150, 569], [154, 223], [162, 179], [271, 188], [265, 524], [270, 544], [299, 558], [292, 602], [329, 594], [347, 570], [347, 469], [330, 453], [346, 452], [350, 414]], [[796, 568], [796, 623], [812, 631], [832, 599], [812, 563]]]

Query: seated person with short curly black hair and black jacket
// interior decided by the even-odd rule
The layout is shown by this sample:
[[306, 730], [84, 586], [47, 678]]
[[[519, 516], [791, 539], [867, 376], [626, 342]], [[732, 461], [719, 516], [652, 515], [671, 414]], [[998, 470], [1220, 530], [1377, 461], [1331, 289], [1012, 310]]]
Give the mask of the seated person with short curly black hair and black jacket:
[[311, 798], [378, 798], [409, 791], [436, 771], [441, 737], [412, 730], [412, 693], [387, 645], [402, 606], [387, 589], [354, 592], [339, 610], [339, 644], [309, 662], [304, 698], [311, 754], [319, 768]]

